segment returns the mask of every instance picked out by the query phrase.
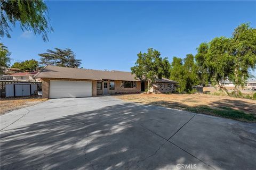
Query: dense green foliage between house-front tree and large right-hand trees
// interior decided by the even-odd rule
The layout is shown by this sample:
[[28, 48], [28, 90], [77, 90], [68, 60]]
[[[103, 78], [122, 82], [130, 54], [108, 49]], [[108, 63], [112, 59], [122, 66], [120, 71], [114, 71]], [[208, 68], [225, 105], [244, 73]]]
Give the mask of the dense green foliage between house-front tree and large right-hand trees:
[[199, 82], [197, 66], [192, 54], [188, 54], [183, 62], [181, 58], [173, 57], [170, 69], [170, 79], [179, 82], [179, 92], [186, 91], [191, 93], [193, 92], [192, 87]]

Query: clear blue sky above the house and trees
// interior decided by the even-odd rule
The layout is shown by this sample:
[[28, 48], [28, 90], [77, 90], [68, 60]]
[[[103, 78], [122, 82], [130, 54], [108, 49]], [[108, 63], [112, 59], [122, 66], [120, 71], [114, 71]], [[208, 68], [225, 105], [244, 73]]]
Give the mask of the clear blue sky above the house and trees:
[[[162, 57], [196, 54], [202, 42], [230, 37], [237, 25], [256, 26], [255, 1], [47, 1], [49, 42], [13, 29], [1, 41], [16, 61], [39, 60], [46, 49], [71, 48], [84, 68], [130, 71], [137, 54], [153, 47]], [[255, 74], [255, 73], [254, 73]]]

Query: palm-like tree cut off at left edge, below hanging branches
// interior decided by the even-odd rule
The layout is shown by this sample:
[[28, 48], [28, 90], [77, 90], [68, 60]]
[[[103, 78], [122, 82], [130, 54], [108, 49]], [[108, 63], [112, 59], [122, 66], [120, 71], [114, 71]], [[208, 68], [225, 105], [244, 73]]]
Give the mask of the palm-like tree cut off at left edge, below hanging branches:
[[4, 46], [3, 43], [0, 43], [0, 74], [3, 74], [3, 67], [9, 67], [11, 58], [9, 57], [11, 53], [8, 48]]

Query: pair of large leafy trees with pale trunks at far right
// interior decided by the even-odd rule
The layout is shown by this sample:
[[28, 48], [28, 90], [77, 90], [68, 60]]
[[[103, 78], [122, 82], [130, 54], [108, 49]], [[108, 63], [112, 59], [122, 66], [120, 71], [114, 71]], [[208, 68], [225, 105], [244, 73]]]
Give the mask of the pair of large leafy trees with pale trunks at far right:
[[228, 94], [221, 82], [230, 80], [235, 84], [236, 95], [239, 95], [239, 87], [244, 87], [251, 77], [249, 70], [256, 69], [256, 29], [241, 24], [231, 38], [217, 37], [210, 43], [199, 45], [195, 58], [202, 84], [210, 80]]

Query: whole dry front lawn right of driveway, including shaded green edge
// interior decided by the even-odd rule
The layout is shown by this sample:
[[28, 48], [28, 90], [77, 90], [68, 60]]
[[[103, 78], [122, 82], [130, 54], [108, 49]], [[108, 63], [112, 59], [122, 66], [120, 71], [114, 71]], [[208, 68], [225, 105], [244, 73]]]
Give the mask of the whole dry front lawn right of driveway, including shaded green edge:
[[256, 122], [256, 101], [213, 95], [136, 94], [116, 96], [125, 101], [183, 109], [189, 112]]

